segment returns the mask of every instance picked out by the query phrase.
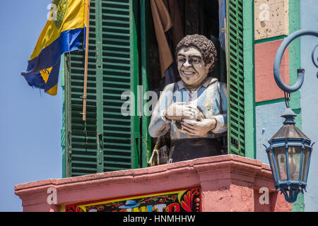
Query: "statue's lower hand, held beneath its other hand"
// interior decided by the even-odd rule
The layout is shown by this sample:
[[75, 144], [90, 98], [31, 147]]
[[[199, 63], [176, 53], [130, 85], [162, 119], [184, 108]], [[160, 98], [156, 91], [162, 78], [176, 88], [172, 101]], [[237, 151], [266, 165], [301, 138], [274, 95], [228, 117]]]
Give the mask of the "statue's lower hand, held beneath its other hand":
[[182, 120], [181, 126], [181, 131], [184, 133], [194, 136], [204, 136], [208, 131], [216, 128], [216, 119], [201, 119], [201, 121]]

